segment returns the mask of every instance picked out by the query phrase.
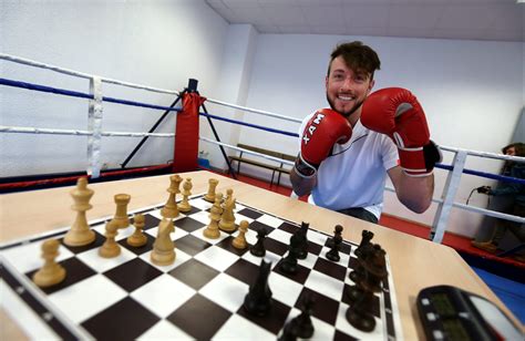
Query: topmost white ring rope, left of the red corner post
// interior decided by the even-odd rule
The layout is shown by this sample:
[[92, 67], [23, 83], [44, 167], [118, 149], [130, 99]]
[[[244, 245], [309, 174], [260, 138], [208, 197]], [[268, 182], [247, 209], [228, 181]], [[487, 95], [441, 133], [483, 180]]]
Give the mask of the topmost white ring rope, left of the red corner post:
[[[40, 68], [40, 69], [45, 69], [45, 70], [51, 70], [51, 71], [54, 71], [54, 72], [59, 72], [59, 73], [63, 73], [63, 74], [68, 74], [68, 75], [72, 75], [72, 76], [76, 76], [76, 78], [81, 78], [81, 79], [92, 79], [93, 76], [95, 76], [93, 74], [87, 74], [87, 73], [83, 73], [83, 72], [79, 72], [79, 71], [74, 71], [74, 70], [59, 68], [59, 66], [55, 66], [55, 65], [44, 64], [44, 63], [41, 63], [41, 62], [35, 62], [35, 61], [32, 61], [32, 60], [29, 60], [29, 59], [14, 56], [14, 55], [6, 54], [6, 53], [0, 53], [0, 60], [13, 62], [13, 63], [19, 63], [19, 64], [24, 64], [24, 65], [30, 65], [30, 66]], [[140, 84], [112, 80], [112, 79], [107, 79], [107, 78], [100, 78], [100, 79], [104, 83], [117, 84], [117, 85], [123, 85], [123, 86], [133, 87], [133, 89], [147, 90], [147, 91], [151, 91], [151, 92], [173, 94], [173, 95], [177, 95], [177, 96], [179, 95], [179, 92], [174, 91], [174, 90], [164, 90], [164, 89], [158, 89], [158, 87], [140, 85]]]

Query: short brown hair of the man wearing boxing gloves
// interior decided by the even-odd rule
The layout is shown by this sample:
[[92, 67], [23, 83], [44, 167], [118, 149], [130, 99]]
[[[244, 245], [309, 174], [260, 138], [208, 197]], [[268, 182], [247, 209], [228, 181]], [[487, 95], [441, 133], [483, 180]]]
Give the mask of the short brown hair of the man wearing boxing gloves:
[[370, 74], [370, 79], [373, 79], [373, 73], [375, 70], [380, 70], [381, 61], [379, 60], [378, 53], [372, 50], [372, 48], [363, 44], [360, 41], [352, 41], [347, 43], [341, 43], [333, 49], [330, 54], [330, 63], [328, 64], [328, 73], [330, 75], [330, 66], [332, 61], [342, 55], [344, 63], [348, 68], [354, 72], [367, 72]]

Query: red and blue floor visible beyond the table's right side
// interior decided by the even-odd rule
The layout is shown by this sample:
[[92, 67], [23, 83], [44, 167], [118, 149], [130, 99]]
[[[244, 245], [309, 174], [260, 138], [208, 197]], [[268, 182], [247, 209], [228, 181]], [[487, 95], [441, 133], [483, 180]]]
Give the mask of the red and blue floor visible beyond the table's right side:
[[[237, 179], [286, 196], [291, 193], [290, 188], [270, 186], [266, 180], [246, 175], [237, 175]], [[306, 198], [300, 199], [306, 200]], [[430, 231], [429, 226], [384, 214], [379, 224], [420, 238], [428, 238]], [[474, 248], [471, 246], [470, 238], [464, 236], [445, 232], [443, 244], [454, 248], [516, 318], [525, 323], [525, 264]]]

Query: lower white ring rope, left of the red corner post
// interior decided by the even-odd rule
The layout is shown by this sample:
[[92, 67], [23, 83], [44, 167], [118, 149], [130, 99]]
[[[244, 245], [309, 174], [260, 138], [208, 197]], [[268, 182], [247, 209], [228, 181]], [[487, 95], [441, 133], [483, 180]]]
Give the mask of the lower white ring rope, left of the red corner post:
[[[48, 135], [75, 135], [75, 136], [92, 136], [94, 132], [78, 131], [78, 130], [49, 130], [34, 128], [29, 126], [4, 126], [0, 125], [0, 133], [20, 133], [20, 134], [48, 134]], [[174, 137], [173, 133], [125, 133], [125, 132], [102, 132], [102, 136], [115, 137]]]

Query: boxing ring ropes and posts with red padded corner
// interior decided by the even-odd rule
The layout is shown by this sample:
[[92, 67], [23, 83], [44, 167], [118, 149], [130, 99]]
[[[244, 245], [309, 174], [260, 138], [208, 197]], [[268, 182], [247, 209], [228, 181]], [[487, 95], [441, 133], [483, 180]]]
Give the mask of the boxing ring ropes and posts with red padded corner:
[[[71, 91], [66, 89], [59, 89], [59, 87], [52, 87], [52, 86], [47, 86], [42, 84], [33, 84], [29, 82], [0, 78], [0, 85], [3, 85], [3, 86], [17, 87], [17, 89], [28, 90], [28, 91], [52, 93], [56, 95], [84, 99], [89, 101], [86, 130], [41, 128], [41, 127], [29, 127], [29, 126], [0, 125], [0, 133], [87, 136], [89, 138], [86, 143], [86, 153], [87, 153], [89, 162], [87, 162], [85, 172], [92, 179], [96, 179], [104, 176], [104, 173], [101, 172], [101, 168], [102, 168], [101, 149], [103, 148], [103, 145], [102, 145], [103, 136], [142, 137], [142, 141], [137, 144], [135, 149], [127, 156], [124, 163], [121, 164], [122, 169], [114, 172], [114, 173], [120, 173], [120, 174], [133, 174], [137, 172], [140, 173], [140, 172], [144, 172], [146, 168], [147, 169], [169, 168], [172, 172], [195, 170], [198, 168], [198, 142], [199, 141], [205, 142], [207, 144], [215, 145], [220, 149], [223, 157], [228, 166], [229, 173], [231, 174], [234, 178], [235, 178], [235, 172], [231, 168], [231, 165], [230, 165], [230, 162], [228, 159], [228, 155], [225, 148], [227, 148], [228, 151], [243, 152], [258, 158], [264, 158], [270, 162], [280, 163], [287, 166], [294, 165], [294, 163], [290, 161], [277, 158], [270, 155], [257, 153], [254, 151], [249, 151], [249, 149], [241, 148], [238, 146], [233, 146], [233, 145], [222, 142], [213, 122], [214, 120], [222, 121], [222, 122], [226, 122], [230, 124], [246, 126], [249, 128], [265, 131], [270, 134], [280, 134], [280, 135], [289, 136], [292, 138], [299, 137], [297, 133], [286, 132], [286, 131], [276, 130], [276, 128], [269, 128], [269, 127], [265, 127], [257, 124], [250, 124], [250, 123], [238, 121], [238, 120], [233, 120], [233, 118], [223, 117], [219, 115], [209, 114], [205, 106], [205, 102], [214, 103], [223, 107], [234, 108], [234, 110], [241, 111], [248, 114], [278, 118], [285, 122], [292, 122], [292, 123], [299, 124], [301, 120], [296, 118], [296, 117], [279, 115], [271, 112], [239, 106], [236, 104], [226, 103], [226, 102], [222, 102], [214, 99], [206, 99], [204, 96], [200, 96], [200, 94], [198, 93], [197, 91], [198, 82], [196, 80], [191, 79], [188, 81], [188, 86], [179, 92], [179, 91], [157, 89], [157, 87], [152, 87], [152, 86], [146, 86], [146, 85], [123, 82], [119, 80], [102, 78], [97, 75], [86, 74], [83, 72], [68, 70], [68, 69], [59, 68], [55, 65], [49, 65], [41, 62], [37, 62], [37, 61], [32, 61], [32, 60], [28, 60], [28, 59], [23, 59], [19, 56], [13, 56], [9, 54], [0, 54], [0, 60], [11, 62], [11, 63], [22, 64], [28, 68], [38, 68], [38, 69], [51, 71], [51, 72], [62, 73], [62, 74], [73, 76], [73, 78], [89, 80], [90, 92], [82, 93], [82, 92]], [[172, 103], [172, 105], [164, 106], [164, 105], [156, 105], [156, 104], [135, 102], [135, 101], [130, 101], [130, 100], [124, 100], [124, 99], [104, 96], [102, 93], [102, 83], [115, 84], [115, 85], [141, 90], [145, 92], [175, 95], [176, 100]], [[104, 102], [116, 103], [120, 105], [138, 106], [138, 107], [145, 107], [145, 108], [151, 108], [151, 110], [159, 110], [159, 111], [164, 111], [164, 113], [162, 117], [155, 123], [155, 125], [147, 133], [105, 132], [102, 130], [102, 122], [104, 118], [103, 117], [103, 103]], [[179, 105], [179, 102], [182, 102], [182, 105]], [[156, 127], [168, 114], [176, 115], [177, 124], [176, 124], [175, 133], [155, 133]], [[205, 117], [206, 121], [209, 123], [209, 126], [212, 128], [215, 140], [212, 140], [205, 136], [199, 136], [199, 117]], [[135, 153], [144, 144], [144, 142], [150, 137], [174, 138], [175, 140], [174, 154], [176, 156], [176, 159], [174, 158], [173, 164], [156, 165], [156, 166], [151, 166], [151, 167], [141, 167], [138, 169], [126, 169], [125, 167], [127, 163], [130, 162], [130, 159], [135, 155]], [[481, 215], [490, 216], [494, 218], [515, 221], [519, 224], [525, 224], [524, 217], [503, 214], [500, 211], [485, 209], [481, 207], [469, 206], [469, 205], [455, 202], [457, 189], [460, 187], [460, 182], [463, 175], [474, 175], [477, 177], [496, 179], [500, 182], [512, 182], [512, 183], [517, 183], [517, 184], [525, 184], [525, 179], [512, 178], [512, 177], [506, 177], [506, 176], [501, 176], [496, 174], [484, 173], [484, 172], [465, 168], [465, 163], [469, 157], [512, 161], [516, 163], [525, 163], [525, 157], [515, 157], [515, 156], [506, 156], [506, 155], [494, 154], [494, 153], [467, 151], [467, 149], [461, 149], [461, 148], [455, 148], [455, 147], [450, 147], [450, 146], [440, 146], [440, 148], [442, 149], [442, 152], [451, 153], [453, 161], [450, 165], [446, 165], [446, 164], [436, 165], [436, 168], [447, 172], [447, 176], [446, 176], [446, 182], [444, 184], [442, 196], [440, 198], [432, 199], [432, 202], [436, 204], [437, 210], [434, 216], [431, 231], [429, 235], [430, 240], [434, 242], [439, 242], [439, 244], [442, 242], [444, 232], [447, 230], [447, 224], [450, 220], [449, 218], [450, 218], [451, 210], [453, 208], [457, 208], [457, 209], [462, 209], [462, 210], [471, 211], [471, 213], [476, 213], [476, 214], [481, 214]], [[71, 180], [71, 178], [66, 178], [64, 179], [64, 182], [65, 180]], [[59, 182], [60, 180], [58, 180], [56, 183]], [[7, 188], [13, 188], [17, 186], [23, 187], [25, 185], [27, 184], [0, 184], [0, 190], [4, 190]], [[393, 188], [389, 186], [387, 186], [385, 189], [389, 192], [394, 192]]]

